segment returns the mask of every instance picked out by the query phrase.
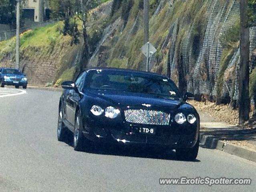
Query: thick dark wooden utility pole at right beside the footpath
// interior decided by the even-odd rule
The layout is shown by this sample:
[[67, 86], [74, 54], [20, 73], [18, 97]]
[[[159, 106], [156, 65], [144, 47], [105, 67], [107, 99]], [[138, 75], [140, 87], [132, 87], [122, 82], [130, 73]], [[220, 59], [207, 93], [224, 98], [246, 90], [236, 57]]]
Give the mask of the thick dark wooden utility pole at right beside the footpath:
[[248, 26], [248, 2], [240, 0], [240, 69], [238, 83], [239, 124], [249, 119], [249, 57], [250, 57], [250, 28]]

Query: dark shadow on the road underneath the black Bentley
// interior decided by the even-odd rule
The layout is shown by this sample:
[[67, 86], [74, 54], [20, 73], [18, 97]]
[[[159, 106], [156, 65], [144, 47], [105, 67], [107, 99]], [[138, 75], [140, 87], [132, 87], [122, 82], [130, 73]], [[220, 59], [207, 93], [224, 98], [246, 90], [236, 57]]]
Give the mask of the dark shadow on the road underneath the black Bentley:
[[[66, 139], [65, 143], [68, 146], [73, 147], [72, 135]], [[112, 155], [112, 156], [124, 156], [134, 158], [150, 158], [159, 160], [177, 160], [175, 152], [173, 150], [166, 150], [164, 148], [150, 148], [139, 146], [126, 146], [119, 144], [105, 144], [94, 143], [90, 148], [85, 146], [81, 152], [100, 154], [100, 155]], [[192, 162], [200, 162], [196, 159]]]

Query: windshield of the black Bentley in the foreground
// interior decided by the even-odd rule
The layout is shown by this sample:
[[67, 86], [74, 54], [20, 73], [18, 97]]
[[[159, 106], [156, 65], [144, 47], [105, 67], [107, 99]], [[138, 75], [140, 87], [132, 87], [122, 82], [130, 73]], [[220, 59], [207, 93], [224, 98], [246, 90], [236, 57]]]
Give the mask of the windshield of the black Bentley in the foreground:
[[99, 90], [179, 97], [177, 86], [168, 78], [139, 72], [95, 70], [89, 75], [87, 86]]

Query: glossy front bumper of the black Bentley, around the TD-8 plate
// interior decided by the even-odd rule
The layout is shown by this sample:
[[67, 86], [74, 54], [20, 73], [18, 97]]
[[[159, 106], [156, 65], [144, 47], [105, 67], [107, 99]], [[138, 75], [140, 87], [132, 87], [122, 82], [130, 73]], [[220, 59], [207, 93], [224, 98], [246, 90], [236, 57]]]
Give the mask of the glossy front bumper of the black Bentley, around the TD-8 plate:
[[[92, 124], [91, 124], [92, 123]], [[99, 122], [86, 124], [84, 135], [95, 142], [135, 145], [157, 145], [168, 148], [192, 148], [199, 137], [199, 123], [194, 125], [152, 126], [141, 124], [100, 125]], [[96, 125], [96, 126], [95, 126]], [[155, 128], [155, 135], [141, 134], [136, 131], [138, 127]], [[87, 130], [90, 130], [89, 132]]]

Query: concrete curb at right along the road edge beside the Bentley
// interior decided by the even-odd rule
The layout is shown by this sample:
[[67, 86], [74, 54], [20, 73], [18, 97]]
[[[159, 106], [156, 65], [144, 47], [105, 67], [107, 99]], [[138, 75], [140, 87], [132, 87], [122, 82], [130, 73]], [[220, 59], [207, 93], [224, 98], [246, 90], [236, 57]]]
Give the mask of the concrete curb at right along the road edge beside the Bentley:
[[203, 148], [217, 149], [256, 162], [256, 151], [229, 144], [228, 142], [214, 138], [212, 135], [200, 134], [200, 146]]

